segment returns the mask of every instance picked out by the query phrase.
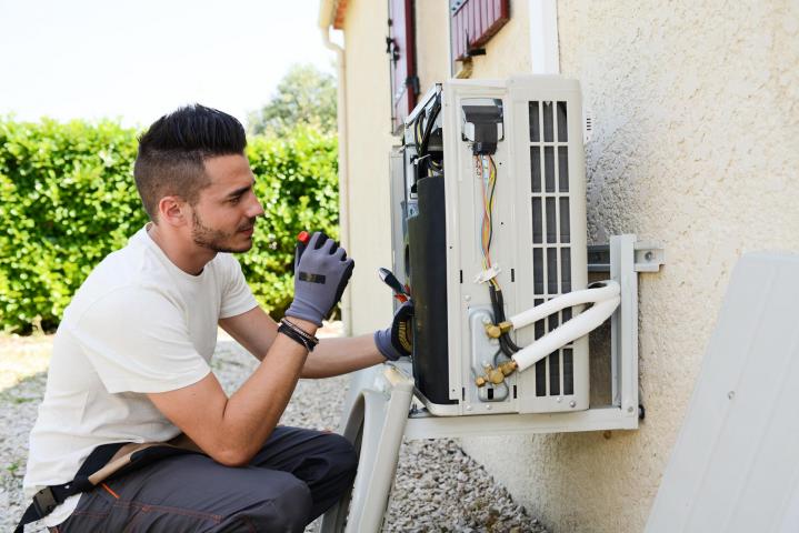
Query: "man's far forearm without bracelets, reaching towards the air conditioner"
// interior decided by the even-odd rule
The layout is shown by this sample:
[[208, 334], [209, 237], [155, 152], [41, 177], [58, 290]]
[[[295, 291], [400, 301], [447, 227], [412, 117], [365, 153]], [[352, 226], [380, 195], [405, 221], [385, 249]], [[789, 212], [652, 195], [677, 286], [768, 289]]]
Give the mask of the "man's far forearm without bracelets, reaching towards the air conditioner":
[[331, 378], [384, 361], [371, 333], [347, 339], [322, 339], [308, 354], [301, 378]]

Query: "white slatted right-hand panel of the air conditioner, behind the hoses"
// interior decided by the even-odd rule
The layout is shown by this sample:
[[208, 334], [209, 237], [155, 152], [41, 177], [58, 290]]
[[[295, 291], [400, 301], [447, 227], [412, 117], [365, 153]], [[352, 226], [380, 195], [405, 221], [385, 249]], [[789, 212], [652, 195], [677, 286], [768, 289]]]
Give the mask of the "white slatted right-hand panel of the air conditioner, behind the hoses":
[[[587, 285], [586, 162], [581, 94], [576, 80], [559, 76], [515, 78], [509, 80], [509, 100], [516, 119], [517, 253], [519, 263], [532, 269], [512, 288], [517, 310], [521, 311]], [[542, 260], [540, 268], [536, 254]], [[577, 311], [565, 310], [528, 326], [517, 333], [517, 340], [527, 345]], [[519, 389], [520, 413], [588, 409], [588, 338], [528, 369]]]

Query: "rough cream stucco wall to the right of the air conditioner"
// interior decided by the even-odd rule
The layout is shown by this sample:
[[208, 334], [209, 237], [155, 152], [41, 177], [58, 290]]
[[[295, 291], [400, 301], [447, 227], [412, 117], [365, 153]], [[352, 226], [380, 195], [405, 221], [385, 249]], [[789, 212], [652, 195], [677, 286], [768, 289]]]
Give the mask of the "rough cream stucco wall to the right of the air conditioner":
[[561, 72], [596, 119], [589, 241], [666, 248], [640, 278], [647, 420], [463, 445], [555, 533], [639, 532], [736, 261], [799, 252], [799, 4], [561, 0], [558, 18]]

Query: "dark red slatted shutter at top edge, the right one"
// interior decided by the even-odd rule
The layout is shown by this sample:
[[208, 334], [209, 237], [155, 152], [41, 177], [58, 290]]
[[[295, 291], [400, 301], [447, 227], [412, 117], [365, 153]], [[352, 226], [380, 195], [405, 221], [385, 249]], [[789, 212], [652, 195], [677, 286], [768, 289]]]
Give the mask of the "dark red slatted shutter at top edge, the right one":
[[510, 0], [450, 1], [452, 59], [462, 61], [510, 20]]

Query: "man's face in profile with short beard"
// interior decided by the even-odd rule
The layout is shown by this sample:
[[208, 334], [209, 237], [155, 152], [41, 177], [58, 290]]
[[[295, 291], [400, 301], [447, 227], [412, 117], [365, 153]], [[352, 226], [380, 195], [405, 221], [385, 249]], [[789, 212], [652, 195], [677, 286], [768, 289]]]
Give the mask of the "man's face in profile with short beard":
[[214, 252], [246, 252], [252, 248], [256, 220], [263, 214], [250, 163], [243, 155], [220, 155], [204, 164], [211, 184], [192, 207], [191, 238]]

